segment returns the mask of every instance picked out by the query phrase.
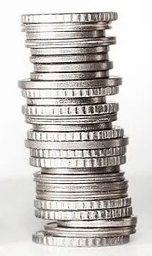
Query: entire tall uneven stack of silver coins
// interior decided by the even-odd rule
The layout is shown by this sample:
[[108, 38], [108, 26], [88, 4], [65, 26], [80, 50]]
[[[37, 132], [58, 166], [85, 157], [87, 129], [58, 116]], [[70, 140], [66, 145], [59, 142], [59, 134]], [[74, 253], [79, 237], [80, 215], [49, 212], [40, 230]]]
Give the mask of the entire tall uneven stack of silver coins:
[[110, 77], [106, 36], [116, 12], [23, 15], [34, 71], [19, 81], [32, 124], [25, 146], [35, 172], [35, 216], [49, 220], [37, 244], [98, 247], [126, 244], [135, 233], [126, 162], [128, 138], [113, 126], [122, 79]]

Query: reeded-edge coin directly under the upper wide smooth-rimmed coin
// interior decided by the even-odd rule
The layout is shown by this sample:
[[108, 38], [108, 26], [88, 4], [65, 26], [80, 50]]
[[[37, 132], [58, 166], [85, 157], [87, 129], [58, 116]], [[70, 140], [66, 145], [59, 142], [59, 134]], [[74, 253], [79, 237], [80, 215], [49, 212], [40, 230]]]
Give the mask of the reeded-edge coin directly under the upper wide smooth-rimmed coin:
[[[104, 98], [106, 95], [116, 95], [119, 92], [118, 86], [100, 88], [72, 88], [72, 89], [22, 89], [22, 96], [29, 99], [88, 99], [89, 102], [96, 97]], [[32, 101], [33, 102], [33, 101]]]

